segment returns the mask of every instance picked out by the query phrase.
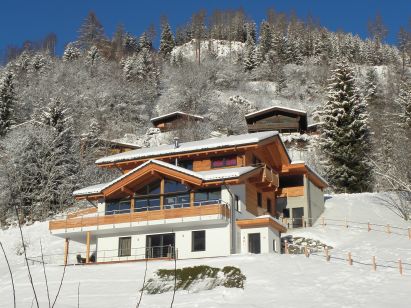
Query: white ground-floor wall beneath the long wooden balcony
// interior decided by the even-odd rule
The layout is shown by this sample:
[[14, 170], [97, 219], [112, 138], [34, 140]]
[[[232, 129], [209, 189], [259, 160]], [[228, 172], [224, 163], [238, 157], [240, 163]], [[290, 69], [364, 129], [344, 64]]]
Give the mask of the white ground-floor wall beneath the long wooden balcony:
[[[205, 251], [191, 251], [192, 231], [197, 230], [206, 231]], [[143, 259], [145, 257], [146, 236], [164, 233], [175, 233], [175, 245], [179, 259], [230, 255], [230, 224], [224, 224], [161, 232], [130, 232], [122, 235], [99, 236], [97, 238], [97, 262]], [[131, 237], [131, 256], [118, 257], [119, 238], [128, 236]]]

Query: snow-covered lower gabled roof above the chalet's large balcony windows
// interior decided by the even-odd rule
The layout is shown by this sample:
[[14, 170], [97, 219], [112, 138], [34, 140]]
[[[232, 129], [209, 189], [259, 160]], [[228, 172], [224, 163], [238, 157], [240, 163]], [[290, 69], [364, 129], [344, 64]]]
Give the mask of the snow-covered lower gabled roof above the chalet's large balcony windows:
[[137, 172], [138, 170], [143, 169], [148, 164], [157, 164], [157, 165], [169, 168], [169, 169], [173, 169], [175, 171], [201, 179], [205, 182], [213, 181], [213, 180], [225, 180], [225, 179], [238, 178], [244, 174], [247, 174], [251, 171], [254, 171], [260, 168], [260, 167], [246, 166], [246, 167], [238, 167], [238, 168], [215, 169], [215, 170], [210, 170], [210, 171], [196, 172], [196, 171], [185, 169], [183, 167], [179, 167], [173, 164], [163, 162], [161, 160], [151, 159], [151, 160], [146, 161], [144, 164], [141, 164], [140, 166], [132, 169], [130, 172], [123, 174], [122, 176], [114, 179], [111, 182], [92, 185], [89, 187], [76, 190], [73, 192], [73, 195], [74, 196], [85, 196], [85, 195], [94, 195], [94, 194], [101, 193], [104, 189], [109, 188], [110, 186], [121, 181], [125, 177], [128, 177], [131, 174]]

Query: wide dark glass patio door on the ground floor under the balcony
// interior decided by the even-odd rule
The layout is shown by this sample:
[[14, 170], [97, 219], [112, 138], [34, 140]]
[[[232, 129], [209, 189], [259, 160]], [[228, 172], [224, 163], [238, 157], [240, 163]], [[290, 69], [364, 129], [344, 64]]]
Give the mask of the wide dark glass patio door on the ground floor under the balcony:
[[146, 247], [146, 258], [174, 258], [175, 234], [147, 235]]

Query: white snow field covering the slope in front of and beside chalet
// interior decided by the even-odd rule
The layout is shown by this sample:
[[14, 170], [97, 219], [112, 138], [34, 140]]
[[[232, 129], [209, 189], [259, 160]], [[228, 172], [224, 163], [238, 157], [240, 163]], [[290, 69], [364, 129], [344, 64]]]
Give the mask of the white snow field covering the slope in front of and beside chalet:
[[[293, 230], [294, 236], [318, 239], [334, 247], [327, 262], [321, 253], [306, 258], [304, 255], [238, 255], [227, 258], [177, 261], [178, 267], [193, 265], [226, 265], [241, 268], [246, 275], [244, 289], [217, 287], [213, 290], [177, 291], [173, 307], [411, 307], [411, 240], [406, 228], [410, 223], [397, 217], [375, 198], [374, 194], [334, 195], [326, 201], [323, 214], [313, 228]], [[331, 221], [347, 219], [345, 222]], [[353, 224], [349, 221], [381, 224]], [[341, 224], [331, 226], [330, 224]], [[385, 232], [385, 225], [392, 233]], [[360, 228], [358, 228], [360, 227]], [[377, 229], [374, 230], [374, 229]], [[38, 255], [42, 239], [45, 254], [62, 253], [63, 240], [52, 237], [47, 223], [24, 227], [29, 240], [29, 255]], [[398, 233], [398, 234], [397, 234]], [[19, 233], [17, 228], [0, 231], [15, 279], [17, 307], [31, 307], [33, 292], [28, 282], [23, 258], [17, 256]], [[84, 248], [71, 243], [71, 250]], [[352, 253], [354, 264], [348, 265], [344, 256]], [[377, 270], [371, 267], [371, 257], [376, 256]], [[396, 261], [401, 258], [404, 273], [399, 274]], [[365, 264], [356, 263], [361, 261]], [[393, 261], [392, 263], [388, 261]], [[384, 266], [384, 267], [383, 267]], [[390, 267], [385, 267], [390, 266]], [[159, 268], [173, 268], [171, 261], [148, 262], [147, 278]], [[68, 266], [61, 295], [55, 307], [77, 307], [77, 289], [80, 283], [80, 307], [136, 307], [142, 287], [145, 262], [123, 264]], [[31, 266], [40, 307], [47, 307], [47, 293], [42, 267]], [[46, 266], [52, 301], [59, 286], [62, 266]], [[170, 307], [172, 293], [144, 294], [140, 307]], [[9, 273], [0, 255], [0, 307], [13, 307]], [[33, 305], [35, 307], [35, 305]]]

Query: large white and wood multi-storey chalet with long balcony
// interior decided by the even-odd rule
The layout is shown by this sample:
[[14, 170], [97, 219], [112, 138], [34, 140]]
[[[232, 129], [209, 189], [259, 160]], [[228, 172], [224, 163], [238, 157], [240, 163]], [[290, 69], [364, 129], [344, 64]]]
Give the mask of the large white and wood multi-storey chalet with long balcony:
[[86, 244], [85, 262], [280, 253], [281, 233], [324, 209], [327, 183], [292, 163], [273, 131], [176, 141], [96, 164], [123, 175], [75, 191], [95, 208], [49, 224], [66, 253], [69, 240]]

